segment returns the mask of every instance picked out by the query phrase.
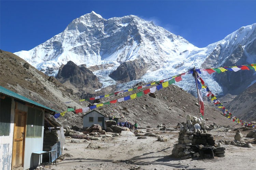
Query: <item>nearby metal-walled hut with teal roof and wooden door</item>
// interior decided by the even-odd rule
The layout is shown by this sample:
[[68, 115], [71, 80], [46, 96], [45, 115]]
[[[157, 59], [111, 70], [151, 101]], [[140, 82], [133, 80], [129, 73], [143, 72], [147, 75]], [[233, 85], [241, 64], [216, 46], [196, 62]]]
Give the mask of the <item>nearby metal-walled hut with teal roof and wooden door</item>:
[[39, 156], [32, 153], [43, 150], [45, 114], [55, 112], [0, 86], [0, 170], [39, 165]]

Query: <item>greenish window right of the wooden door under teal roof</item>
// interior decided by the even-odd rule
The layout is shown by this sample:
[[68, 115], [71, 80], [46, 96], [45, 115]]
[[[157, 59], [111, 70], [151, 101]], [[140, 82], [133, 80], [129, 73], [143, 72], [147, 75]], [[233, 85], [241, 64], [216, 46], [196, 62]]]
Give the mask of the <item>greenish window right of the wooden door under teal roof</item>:
[[26, 137], [41, 138], [43, 126], [43, 111], [28, 107]]

